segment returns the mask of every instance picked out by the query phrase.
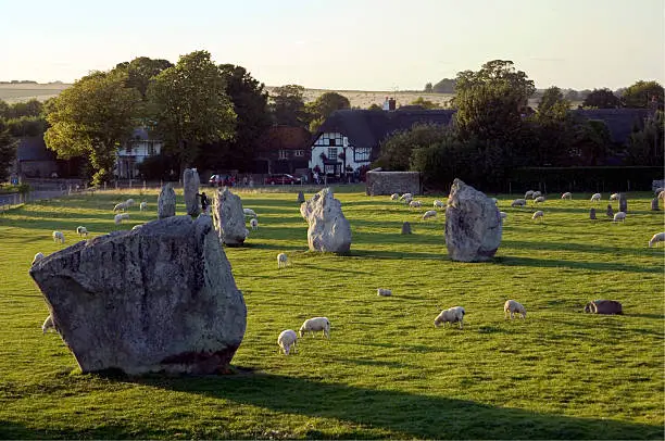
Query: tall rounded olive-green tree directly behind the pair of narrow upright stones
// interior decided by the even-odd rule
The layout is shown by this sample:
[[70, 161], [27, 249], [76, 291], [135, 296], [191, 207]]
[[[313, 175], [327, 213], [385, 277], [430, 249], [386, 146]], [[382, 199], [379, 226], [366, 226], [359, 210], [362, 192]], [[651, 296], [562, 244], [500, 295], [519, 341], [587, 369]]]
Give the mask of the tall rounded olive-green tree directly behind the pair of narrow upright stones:
[[208, 51], [181, 55], [148, 87], [153, 104], [154, 129], [180, 164], [179, 175], [202, 144], [230, 139], [236, 113], [226, 93], [226, 81]]

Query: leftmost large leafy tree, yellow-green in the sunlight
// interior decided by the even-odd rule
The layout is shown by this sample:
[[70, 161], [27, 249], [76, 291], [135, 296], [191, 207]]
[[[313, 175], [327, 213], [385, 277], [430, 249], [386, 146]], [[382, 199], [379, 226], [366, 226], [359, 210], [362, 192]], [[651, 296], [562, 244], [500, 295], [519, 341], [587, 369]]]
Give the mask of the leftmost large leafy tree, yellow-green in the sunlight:
[[116, 151], [135, 128], [140, 96], [126, 80], [123, 72], [93, 72], [47, 106], [47, 147], [64, 159], [89, 156], [93, 184], [109, 180]]

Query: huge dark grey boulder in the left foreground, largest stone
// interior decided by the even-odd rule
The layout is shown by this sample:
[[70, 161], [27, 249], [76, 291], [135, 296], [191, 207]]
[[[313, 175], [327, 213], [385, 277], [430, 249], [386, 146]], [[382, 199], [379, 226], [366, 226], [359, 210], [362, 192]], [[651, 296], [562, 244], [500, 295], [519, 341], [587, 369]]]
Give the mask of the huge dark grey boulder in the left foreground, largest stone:
[[81, 241], [29, 274], [84, 373], [211, 374], [244, 335], [244, 300], [210, 216]]

